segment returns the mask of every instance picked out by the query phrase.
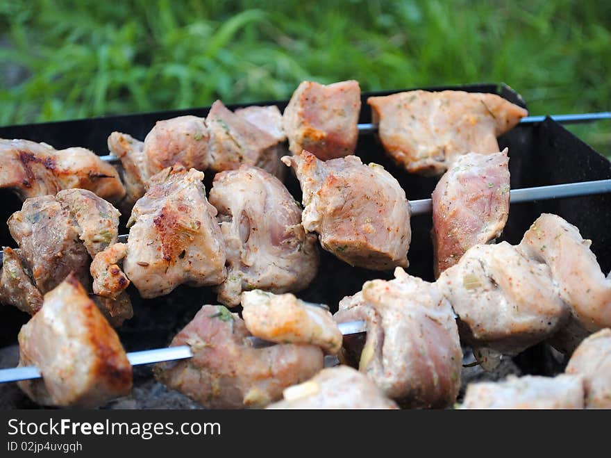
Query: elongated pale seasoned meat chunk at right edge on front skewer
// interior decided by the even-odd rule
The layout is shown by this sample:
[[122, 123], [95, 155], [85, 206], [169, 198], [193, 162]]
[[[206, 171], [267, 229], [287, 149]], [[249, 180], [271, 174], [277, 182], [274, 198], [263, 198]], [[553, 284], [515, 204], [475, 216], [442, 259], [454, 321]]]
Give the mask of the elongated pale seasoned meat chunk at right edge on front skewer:
[[611, 279], [605, 278], [596, 256], [573, 224], [543, 213], [520, 242], [520, 249], [549, 265], [560, 285], [560, 297], [571, 306], [580, 325], [593, 332], [611, 327]]

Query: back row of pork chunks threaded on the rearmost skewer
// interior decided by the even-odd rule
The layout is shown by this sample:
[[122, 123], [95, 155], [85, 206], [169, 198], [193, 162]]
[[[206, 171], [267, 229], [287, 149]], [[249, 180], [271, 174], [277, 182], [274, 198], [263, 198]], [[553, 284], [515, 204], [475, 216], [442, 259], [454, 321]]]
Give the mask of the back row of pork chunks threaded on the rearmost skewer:
[[[395, 99], [405, 98], [410, 103], [396, 108]], [[443, 156], [433, 160], [442, 163], [441, 168], [434, 167], [440, 171], [460, 154], [498, 150], [496, 135], [512, 128], [526, 114], [499, 96], [462, 91], [403, 92], [370, 97], [368, 102], [374, 107], [374, 120], [379, 118], [380, 138], [391, 155], [396, 157], [397, 148], [388, 145], [397, 143], [408, 145], [398, 150], [423, 150], [426, 158], [437, 158], [439, 154], [429, 151], [435, 145], [433, 149], [440, 149]], [[187, 115], [158, 121], [144, 141], [113, 132], [108, 149], [121, 161], [124, 184], [117, 170], [87, 149], [58, 152], [44, 143], [1, 140], [0, 154], [6, 160], [0, 168], [0, 186], [23, 197], [55, 194], [67, 188], [90, 189], [127, 213], [144, 195], [154, 174], [178, 163], [212, 172], [256, 165], [282, 178], [284, 170], [278, 159], [285, 152], [287, 138], [293, 154], [305, 149], [321, 160], [349, 156], [358, 140], [360, 105], [357, 81], [330, 85], [303, 81], [283, 114], [276, 106], [249, 106], [231, 112], [215, 101], [206, 118]], [[388, 107], [393, 108], [388, 111]], [[457, 112], [462, 114], [455, 115]], [[404, 118], [421, 117], [428, 120], [424, 136], [415, 135], [418, 129], [413, 122], [405, 124], [408, 128], [398, 128]], [[431, 129], [446, 132], [442, 145], [434, 141]]]

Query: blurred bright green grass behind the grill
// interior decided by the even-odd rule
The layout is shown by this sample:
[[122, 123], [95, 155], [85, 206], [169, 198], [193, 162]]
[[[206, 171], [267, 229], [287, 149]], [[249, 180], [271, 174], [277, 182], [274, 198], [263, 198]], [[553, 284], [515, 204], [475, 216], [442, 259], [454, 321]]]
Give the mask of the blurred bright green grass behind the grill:
[[[609, 1], [0, 1], [0, 124], [508, 83], [530, 113], [611, 110]], [[571, 127], [611, 154], [611, 122]]]

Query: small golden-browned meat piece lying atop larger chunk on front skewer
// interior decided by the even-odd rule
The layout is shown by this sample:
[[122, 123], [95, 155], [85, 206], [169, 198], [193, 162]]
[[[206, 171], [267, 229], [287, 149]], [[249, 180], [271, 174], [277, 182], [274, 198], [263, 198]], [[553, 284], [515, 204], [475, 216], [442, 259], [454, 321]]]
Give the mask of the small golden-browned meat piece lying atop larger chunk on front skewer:
[[276, 343], [307, 343], [327, 354], [342, 348], [342, 332], [324, 306], [287, 293], [255, 290], [242, 293], [242, 318], [253, 336]]

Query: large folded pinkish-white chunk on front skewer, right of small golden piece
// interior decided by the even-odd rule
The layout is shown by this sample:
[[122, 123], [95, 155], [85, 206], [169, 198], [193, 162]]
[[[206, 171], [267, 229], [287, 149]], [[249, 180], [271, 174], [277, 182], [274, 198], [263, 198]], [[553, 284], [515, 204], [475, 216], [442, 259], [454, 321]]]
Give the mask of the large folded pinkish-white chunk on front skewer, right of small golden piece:
[[446, 407], [460, 388], [462, 350], [449, 302], [435, 284], [396, 268], [344, 297], [336, 322], [365, 320], [359, 370], [405, 407]]

